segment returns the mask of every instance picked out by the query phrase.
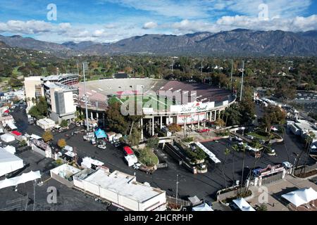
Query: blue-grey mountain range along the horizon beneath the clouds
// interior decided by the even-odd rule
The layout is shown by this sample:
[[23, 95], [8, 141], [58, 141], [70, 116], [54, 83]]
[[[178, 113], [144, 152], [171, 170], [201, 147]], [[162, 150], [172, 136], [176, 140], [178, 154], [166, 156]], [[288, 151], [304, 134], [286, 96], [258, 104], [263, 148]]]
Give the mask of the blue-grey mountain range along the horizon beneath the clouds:
[[185, 35], [145, 34], [113, 43], [83, 41], [56, 44], [30, 37], [0, 35], [11, 47], [51, 51], [64, 55], [236, 55], [317, 56], [317, 31], [285, 32], [237, 29], [218, 33], [197, 32]]

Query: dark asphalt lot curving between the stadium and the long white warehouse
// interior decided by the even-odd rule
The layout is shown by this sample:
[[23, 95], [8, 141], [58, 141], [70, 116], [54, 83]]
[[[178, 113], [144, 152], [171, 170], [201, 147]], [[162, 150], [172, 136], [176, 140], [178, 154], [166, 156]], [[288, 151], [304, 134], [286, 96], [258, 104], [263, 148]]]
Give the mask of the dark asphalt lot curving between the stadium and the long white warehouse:
[[[13, 113], [13, 116], [17, 121], [18, 127], [21, 127], [19, 127], [19, 130], [27, 132], [27, 134], [37, 134], [42, 136], [42, 129], [36, 125], [29, 126], [27, 122], [25, 122], [27, 120], [23, 120], [23, 117], [26, 117], [25, 114], [22, 112], [15, 112]], [[20, 120], [20, 122], [18, 122], [18, 120]], [[170, 158], [170, 156], [166, 155], [163, 150], [159, 150], [160, 156], [166, 160], [168, 167], [164, 169], [158, 169], [154, 174], [147, 174], [145, 172], [135, 170], [132, 167], [128, 167], [124, 160], [123, 151], [119, 148], [115, 148], [113, 145], [111, 145], [111, 143], [106, 143], [106, 150], [101, 150], [95, 146], [92, 146], [92, 144], [88, 141], [83, 141], [83, 134], [71, 136], [71, 133], [77, 129], [79, 129], [79, 127], [75, 127], [75, 125], [73, 125], [65, 132], [54, 132], [53, 143], [56, 144], [58, 139], [64, 138], [66, 139], [68, 146], [73, 146], [76, 148], [79, 158], [88, 156], [104, 162], [104, 165], [109, 167], [111, 170], [119, 170], [132, 175], [135, 174], [137, 176], [137, 181], [148, 182], [151, 184], [151, 186], [167, 191], [168, 195], [175, 195], [177, 174], [179, 174], [178, 193], [181, 198], [197, 195], [199, 198], [204, 198], [204, 200], [213, 201], [216, 199], [216, 191], [225, 186], [221, 164], [209, 164], [209, 172], [206, 174], [192, 174], [187, 169], [185, 169], [185, 167], [178, 165], [178, 162], [175, 162], [175, 160]], [[83, 129], [83, 127], [80, 129]], [[66, 135], [68, 135], [69, 138], [66, 138]], [[216, 157], [221, 160], [221, 162], [223, 162], [225, 159], [225, 148], [229, 148], [230, 145], [232, 145], [229, 139], [221, 139], [218, 143], [209, 141], [203, 144], [206, 146], [206, 148], [209, 148], [209, 150], [211, 150], [216, 155]], [[285, 146], [287, 148], [285, 148]], [[300, 153], [300, 151], [304, 148], [304, 144], [300, 142], [296, 136], [290, 134], [290, 132], [287, 131], [287, 134], [285, 135], [285, 146], [284, 144], [273, 145], [277, 156], [268, 156], [263, 154], [261, 160], [259, 160], [256, 166], [266, 167], [267, 165], [279, 164], [285, 161], [290, 161], [293, 164], [294, 156], [292, 153]], [[312, 162], [313, 161], [310, 161], [310, 163]], [[254, 157], [249, 155], [249, 153], [245, 154], [244, 167], [254, 167]], [[231, 185], [233, 176], [235, 176], [235, 180], [241, 179], [242, 153], [235, 153], [234, 175], [232, 174], [232, 155], [228, 155], [228, 158], [225, 162], [224, 171], [228, 185]], [[245, 171], [246, 172], [244, 175], [247, 175], [247, 170]], [[168, 190], [171, 190], [172, 188], [174, 190]]]

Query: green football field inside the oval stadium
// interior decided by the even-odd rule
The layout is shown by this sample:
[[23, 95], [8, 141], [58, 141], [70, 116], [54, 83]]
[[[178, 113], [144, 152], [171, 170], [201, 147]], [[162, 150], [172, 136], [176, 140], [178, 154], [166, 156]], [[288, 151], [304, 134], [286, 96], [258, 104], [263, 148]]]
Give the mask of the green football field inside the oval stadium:
[[154, 110], [168, 110], [170, 105], [173, 105], [173, 101], [170, 101], [164, 97], [159, 96], [113, 96], [109, 99], [109, 103], [118, 102], [118, 103], [125, 103], [125, 101], [135, 101], [135, 103], [142, 103], [143, 108], [154, 108]]

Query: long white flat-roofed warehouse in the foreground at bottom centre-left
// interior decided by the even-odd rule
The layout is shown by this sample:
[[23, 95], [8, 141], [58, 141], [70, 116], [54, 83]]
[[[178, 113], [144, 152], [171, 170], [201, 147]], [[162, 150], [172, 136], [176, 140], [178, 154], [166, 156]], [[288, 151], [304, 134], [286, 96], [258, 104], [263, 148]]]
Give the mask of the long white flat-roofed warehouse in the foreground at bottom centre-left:
[[109, 172], [101, 168], [73, 176], [74, 186], [110, 201], [113, 205], [131, 211], [166, 210], [166, 192], [136, 181], [136, 177], [123, 172]]

